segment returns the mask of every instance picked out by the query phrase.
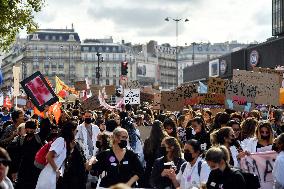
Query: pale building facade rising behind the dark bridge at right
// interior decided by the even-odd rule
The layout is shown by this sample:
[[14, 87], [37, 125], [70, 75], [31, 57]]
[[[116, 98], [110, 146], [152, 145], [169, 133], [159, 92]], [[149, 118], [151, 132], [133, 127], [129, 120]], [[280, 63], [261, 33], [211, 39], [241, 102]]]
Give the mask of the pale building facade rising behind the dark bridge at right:
[[[187, 67], [195, 68], [195, 64], [199, 64], [204, 61], [209, 61], [216, 57], [220, 57], [224, 54], [228, 54], [233, 51], [238, 51], [245, 48], [246, 44], [238, 43], [237, 41], [225, 42], [225, 43], [192, 43], [188, 47], [182, 47], [178, 56], [178, 83], [183, 83], [184, 77], [190, 76], [183, 75], [183, 69]], [[198, 66], [197, 66], [198, 67]], [[194, 73], [195, 74], [195, 73]]]

